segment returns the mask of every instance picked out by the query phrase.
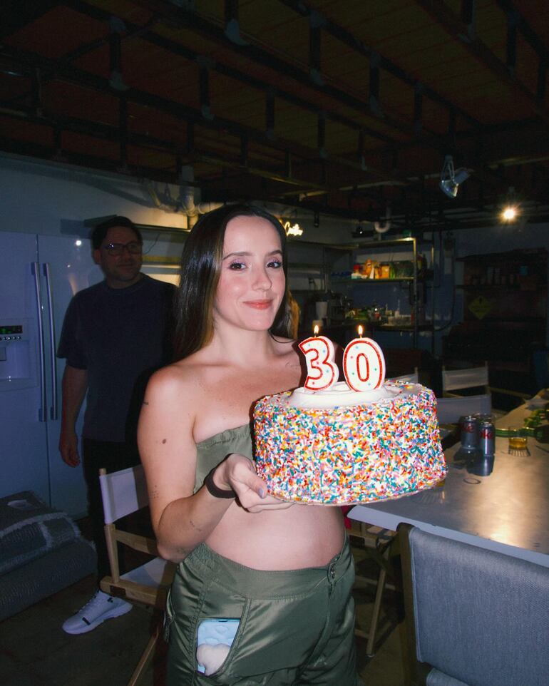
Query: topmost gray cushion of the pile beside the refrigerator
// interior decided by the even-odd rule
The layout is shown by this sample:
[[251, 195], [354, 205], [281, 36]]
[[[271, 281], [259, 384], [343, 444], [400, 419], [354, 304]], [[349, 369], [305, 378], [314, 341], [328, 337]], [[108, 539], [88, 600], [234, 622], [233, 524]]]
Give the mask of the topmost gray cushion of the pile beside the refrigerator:
[[0, 575], [79, 536], [64, 512], [49, 508], [31, 491], [0, 498]]

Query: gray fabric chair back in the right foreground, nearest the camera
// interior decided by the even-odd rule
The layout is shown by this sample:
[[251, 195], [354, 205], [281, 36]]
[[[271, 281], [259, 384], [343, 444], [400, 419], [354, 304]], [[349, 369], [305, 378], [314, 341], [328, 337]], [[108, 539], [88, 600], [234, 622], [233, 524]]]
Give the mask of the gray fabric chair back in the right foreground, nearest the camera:
[[549, 568], [399, 526], [409, 685], [545, 686]]

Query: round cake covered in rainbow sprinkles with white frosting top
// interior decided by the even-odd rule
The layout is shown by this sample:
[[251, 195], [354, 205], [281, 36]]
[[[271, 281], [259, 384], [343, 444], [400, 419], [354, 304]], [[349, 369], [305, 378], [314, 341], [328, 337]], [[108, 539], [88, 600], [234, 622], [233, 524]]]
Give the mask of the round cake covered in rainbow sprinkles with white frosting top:
[[[299, 394], [309, 406], [299, 406]], [[347, 392], [333, 396], [297, 389], [255, 405], [257, 473], [273, 496], [367, 503], [430, 488], [446, 476], [433, 391], [387, 382], [378, 396], [359, 404], [349, 404], [359, 398]], [[310, 406], [323, 401], [328, 406]]]

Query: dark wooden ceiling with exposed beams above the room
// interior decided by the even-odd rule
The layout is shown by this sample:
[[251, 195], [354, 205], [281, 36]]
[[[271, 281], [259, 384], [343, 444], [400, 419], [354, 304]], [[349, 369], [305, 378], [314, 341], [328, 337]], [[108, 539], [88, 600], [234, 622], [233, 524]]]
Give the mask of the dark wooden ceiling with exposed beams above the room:
[[[26, 154], [61, 154], [71, 163], [88, 160], [98, 165], [103, 158], [108, 168], [120, 164], [123, 91], [108, 86], [109, 19], [116, 16], [124, 22], [118, 24], [121, 74], [130, 86], [129, 173], [150, 170], [155, 178], [173, 177], [180, 155], [195, 167], [198, 183], [217, 180], [221, 187], [223, 179], [231, 178], [237, 188], [248, 179], [250, 192], [290, 192], [294, 202], [302, 188], [322, 189], [328, 202], [337, 203], [334, 211], [342, 211], [344, 184], [407, 183], [407, 200], [401, 185], [384, 187], [394, 198], [395, 211], [404, 211], [403, 203], [416, 208], [425, 199], [418, 183], [406, 178], [432, 175], [426, 202], [438, 200], [441, 156], [455, 146], [456, 160], [473, 160], [475, 171], [468, 193], [461, 193], [453, 206], [471, 203], [481, 179], [489, 198], [511, 178], [526, 183], [521, 180], [533, 178], [534, 169], [538, 179], [546, 180], [549, 166], [543, 159], [525, 163], [535, 153], [543, 158], [539, 141], [544, 135], [549, 139], [546, 98], [536, 101], [549, 22], [544, 23], [543, 11], [534, 11], [532, 1], [513, 1], [529, 24], [528, 30], [518, 28], [511, 76], [505, 67], [506, 0], [476, 1], [476, 33], [464, 36], [473, 43], [441, 21], [447, 15], [457, 17], [452, 29], [457, 25], [467, 31], [460, 17], [461, 0], [240, 0], [238, 19], [247, 47], [235, 46], [223, 35], [224, 3], [219, 0], [200, 0], [194, 13], [166, 0], [49, 3], [41, 16], [38, 12], [28, 23], [20, 22], [0, 46], [0, 145], [13, 151], [14, 144], [2, 133], [12, 125], [14, 140]], [[308, 74], [309, 9], [328, 21], [319, 31], [317, 66], [324, 86]], [[13, 48], [21, 50], [19, 57]], [[372, 51], [381, 56], [381, 116], [369, 107]], [[200, 115], [197, 55], [212, 60], [207, 71], [211, 121]], [[9, 76], [11, 69], [19, 69], [21, 76]], [[423, 92], [417, 122], [421, 127], [414, 130], [418, 82]], [[264, 133], [269, 87], [271, 140]], [[320, 111], [326, 113], [322, 138]], [[454, 140], [448, 136], [452, 111]], [[193, 150], [187, 120], [193, 123]], [[63, 149], [57, 152], [54, 128], [61, 131]], [[247, 138], [247, 167], [242, 164], [242, 136]], [[358, 164], [360, 137], [366, 170]], [[296, 178], [284, 182], [289, 151]], [[525, 165], [523, 173], [514, 175], [513, 168], [506, 167], [498, 171], [498, 180], [487, 165], [502, 160]], [[528, 183], [543, 195], [543, 183]], [[339, 190], [329, 193], [336, 186]], [[378, 191], [372, 188], [369, 193]]]

